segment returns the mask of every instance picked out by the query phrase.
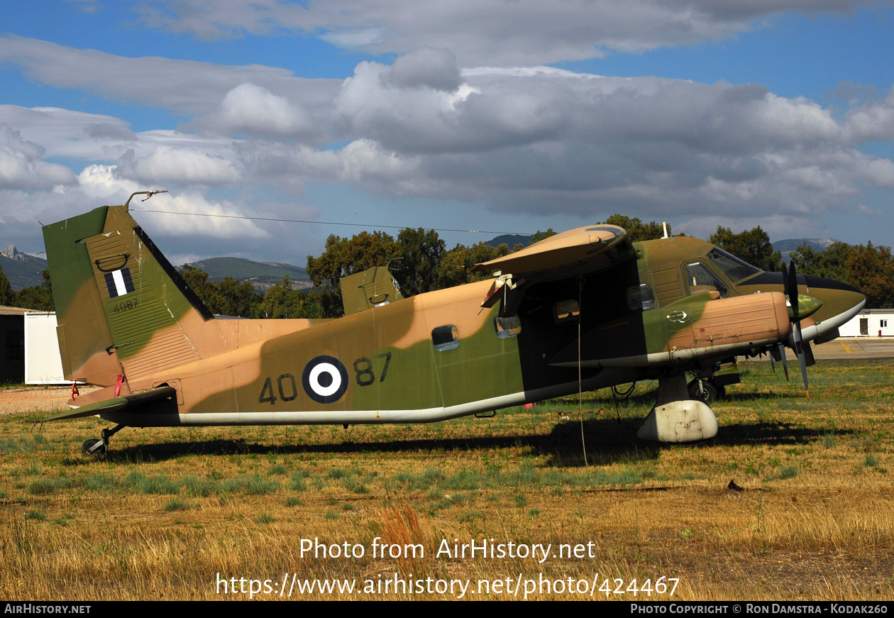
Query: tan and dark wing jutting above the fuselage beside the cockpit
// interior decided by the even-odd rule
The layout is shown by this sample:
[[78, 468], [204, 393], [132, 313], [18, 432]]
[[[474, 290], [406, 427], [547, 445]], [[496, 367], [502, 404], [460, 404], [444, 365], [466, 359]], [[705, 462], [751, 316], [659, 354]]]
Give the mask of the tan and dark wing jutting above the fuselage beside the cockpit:
[[636, 251], [624, 228], [589, 225], [550, 236], [502, 258], [477, 264], [476, 271], [499, 270], [529, 282], [555, 281], [607, 270], [634, 258]]

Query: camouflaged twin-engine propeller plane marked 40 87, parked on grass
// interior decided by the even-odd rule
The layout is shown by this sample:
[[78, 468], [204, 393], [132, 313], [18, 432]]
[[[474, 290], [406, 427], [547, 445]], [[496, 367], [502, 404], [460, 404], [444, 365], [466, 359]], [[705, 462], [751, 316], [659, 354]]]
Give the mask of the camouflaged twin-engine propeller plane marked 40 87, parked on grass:
[[337, 319], [220, 319], [128, 203], [44, 227], [65, 376], [104, 387], [47, 420], [117, 423], [85, 453], [124, 427], [432, 422], [644, 378], [658, 399], [638, 436], [702, 440], [717, 419], [687, 373], [781, 360], [784, 345], [805, 366], [809, 343], [864, 305], [705, 241], [595, 224], [475, 267], [493, 279], [410, 298], [384, 267], [345, 277]]

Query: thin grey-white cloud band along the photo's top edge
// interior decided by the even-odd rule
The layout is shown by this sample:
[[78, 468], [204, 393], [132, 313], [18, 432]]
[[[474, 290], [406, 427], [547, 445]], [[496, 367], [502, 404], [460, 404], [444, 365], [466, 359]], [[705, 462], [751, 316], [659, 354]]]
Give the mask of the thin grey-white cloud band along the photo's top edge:
[[152, 27], [200, 38], [313, 34], [344, 48], [404, 53], [449, 48], [461, 66], [582, 60], [611, 51], [721, 40], [765, 27], [783, 12], [848, 11], [872, 0], [157, 0], [144, 5]]

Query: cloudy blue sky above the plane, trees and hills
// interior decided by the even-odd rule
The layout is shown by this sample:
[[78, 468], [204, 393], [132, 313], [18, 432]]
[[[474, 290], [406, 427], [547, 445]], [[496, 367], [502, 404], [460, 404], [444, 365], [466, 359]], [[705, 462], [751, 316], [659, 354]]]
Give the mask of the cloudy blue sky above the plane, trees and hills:
[[0, 245], [29, 253], [154, 189], [131, 211], [174, 264], [614, 213], [894, 245], [890, 2], [6, 0], [0, 24]]

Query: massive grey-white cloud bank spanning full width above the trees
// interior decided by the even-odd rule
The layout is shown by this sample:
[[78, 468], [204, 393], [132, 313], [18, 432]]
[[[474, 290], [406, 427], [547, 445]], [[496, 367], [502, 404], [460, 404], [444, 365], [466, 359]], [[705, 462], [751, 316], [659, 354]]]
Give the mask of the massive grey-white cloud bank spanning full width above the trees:
[[[413, 49], [391, 66], [359, 63], [337, 82], [298, 80], [270, 67], [97, 55], [18, 38], [0, 38], [0, 57], [4, 49], [27, 52], [18, 62], [50, 72], [47, 79], [72, 80], [110, 97], [119, 86], [104, 68], [113, 75], [143, 71], [146, 83], [164, 90], [149, 96], [168, 109], [189, 107], [186, 126], [197, 131], [133, 132], [108, 115], [0, 106], [5, 148], [19, 165], [4, 169], [31, 179], [6, 186], [37, 189], [30, 198], [4, 191], [0, 216], [7, 218], [19, 216], [12, 209], [28, 199], [35, 216], [49, 209], [46, 218], [55, 219], [56, 211], [82, 210], [85, 197], [107, 203], [132, 190], [168, 188], [194, 198], [197, 185], [230, 198], [208, 199], [204, 207], [223, 208], [217, 212], [256, 212], [266, 207], [258, 196], [274, 195], [283, 202], [275, 209], [286, 213], [304, 200], [308, 184], [346, 182], [388, 197], [463, 199], [519, 216], [592, 220], [623, 212], [697, 222], [747, 213], [804, 224], [823, 212], [853, 209], [867, 186], [894, 188], [894, 162], [857, 149], [894, 138], [890, 94], [839, 112], [760, 84], [602, 77], [544, 66], [460, 71], [450, 51], [434, 47]], [[72, 77], [36, 64], [38, 56], [48, 62], [68, 53], [97, 66]], [[164, 85], [169, 71], [174, 84], [195, 80], [188, 103]], [[67, 170], [48, 163], [52, 157], [87, 165], [80, 188], [68, 171], [64, 192], [49, 195], [61, 184], [53, 174]], [[165, 223], [164, 233], [177, 229]]]

